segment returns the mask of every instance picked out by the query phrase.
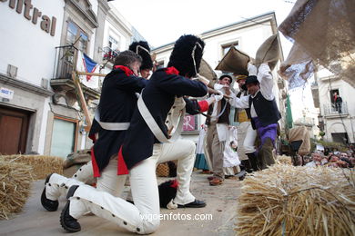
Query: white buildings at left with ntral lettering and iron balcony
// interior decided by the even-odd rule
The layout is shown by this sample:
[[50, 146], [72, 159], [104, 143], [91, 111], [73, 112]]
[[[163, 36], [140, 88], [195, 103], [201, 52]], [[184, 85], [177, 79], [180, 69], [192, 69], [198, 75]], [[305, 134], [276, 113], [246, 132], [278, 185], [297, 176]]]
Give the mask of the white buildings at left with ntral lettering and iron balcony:
[[[71, 76], [77, 52], [106, 74], [112, 63], [106, 66], [104, 48], [125, 50], [134, 28], [106, 0], [8, 0], [0, 5], [0, 154], [65, 158], [89, 148]], [[83, 86], [83, 92], [92, 113], [99, 89]]]

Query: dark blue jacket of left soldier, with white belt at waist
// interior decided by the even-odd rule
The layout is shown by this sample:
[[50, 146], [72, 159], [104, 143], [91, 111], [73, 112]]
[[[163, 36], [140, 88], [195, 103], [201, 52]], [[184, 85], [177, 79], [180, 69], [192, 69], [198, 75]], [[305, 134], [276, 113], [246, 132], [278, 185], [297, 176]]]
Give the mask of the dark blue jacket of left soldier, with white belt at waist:
[[[137, 107], [137, 95], [146, 86], [147, 80], [133, 75], [126, 66], [117, 65], [106, 75], [102, 85], [102, 92], [98, 109], [100, 121], [106, 123], [129, 123]], [[94, 176], [100, 173], [110, 161], [110, 157], [117, 153], [122, 145], [127, 131], [108, 131], [94, 123], [90, 134], [98, 132], [91, 152]]]

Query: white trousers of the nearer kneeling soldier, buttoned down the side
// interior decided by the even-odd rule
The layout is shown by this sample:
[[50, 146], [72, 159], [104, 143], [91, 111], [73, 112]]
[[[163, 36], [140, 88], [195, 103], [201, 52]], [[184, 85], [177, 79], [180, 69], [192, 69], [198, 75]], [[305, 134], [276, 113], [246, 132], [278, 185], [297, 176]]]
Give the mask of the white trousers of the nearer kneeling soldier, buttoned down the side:
[[[174, 202], [194, 202], [195, 197], [189, 192], [189, 184], [195, 162], [195, 143], [177, 140], [176, 143], [154, 144], [153, 155], [130, 170], [129, 181], [134, 205], [91, 186], [80, 185], [70, 198], [70, 215], [78, 219], [86, 211], [91, 211], [128, 231], [141, 234], [156, 231], [160, 224], [156, 166], [159, 162], [172, 160], [177, 160], [178, 187]], [[112, 159], [97, 180], [97, 185], [104, 182], [106, 186], [114, 187], [124, 184], [123, 178], [126, 177], [117, 176], [117, 159]]]

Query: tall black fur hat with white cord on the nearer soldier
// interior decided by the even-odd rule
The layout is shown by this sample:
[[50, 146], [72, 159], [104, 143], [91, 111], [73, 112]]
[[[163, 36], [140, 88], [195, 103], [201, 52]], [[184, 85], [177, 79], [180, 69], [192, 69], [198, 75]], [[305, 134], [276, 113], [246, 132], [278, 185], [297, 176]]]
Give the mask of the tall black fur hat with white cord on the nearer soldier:
[[167, 66], [174, 66], [180, 75], [194, 77], [198, 74], [205, 43], [195, 35], [182, 35], [177, 39]]

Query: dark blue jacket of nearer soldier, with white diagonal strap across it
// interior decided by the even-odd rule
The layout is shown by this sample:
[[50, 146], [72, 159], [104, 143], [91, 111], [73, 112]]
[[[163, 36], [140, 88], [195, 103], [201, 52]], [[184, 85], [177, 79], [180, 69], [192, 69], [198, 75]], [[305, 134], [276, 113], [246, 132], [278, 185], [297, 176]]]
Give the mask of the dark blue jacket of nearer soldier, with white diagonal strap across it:
[[[152, 74], [142, 93], [142, 98], [157, 125], [167, 136], [165, 121], [175, 97], [183, 95], [201, 97], [207, 93], [208, 88], [205, 84], [178, 75], [176, 68], [168, 67], [159, 69]], [[159, 142], [150, 131], [138, 109], [135, 109], [123, 143], [122, 152], [120, 152], [121, 156], [118, 155], [118, 174], [127, 173], [137, 162], [150, 157], [153, 153], [154, 143]]]

